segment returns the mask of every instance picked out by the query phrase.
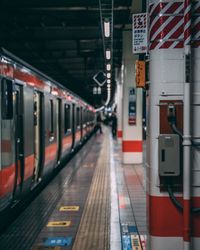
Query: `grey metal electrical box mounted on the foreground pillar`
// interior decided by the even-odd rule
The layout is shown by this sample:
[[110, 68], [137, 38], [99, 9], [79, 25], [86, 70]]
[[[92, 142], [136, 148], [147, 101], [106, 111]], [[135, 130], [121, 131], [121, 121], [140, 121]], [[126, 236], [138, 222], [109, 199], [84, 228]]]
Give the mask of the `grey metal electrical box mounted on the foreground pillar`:
[[159, 175], [180, 175], [180, 139], [175, 134], [164, 134], [158, 137]]

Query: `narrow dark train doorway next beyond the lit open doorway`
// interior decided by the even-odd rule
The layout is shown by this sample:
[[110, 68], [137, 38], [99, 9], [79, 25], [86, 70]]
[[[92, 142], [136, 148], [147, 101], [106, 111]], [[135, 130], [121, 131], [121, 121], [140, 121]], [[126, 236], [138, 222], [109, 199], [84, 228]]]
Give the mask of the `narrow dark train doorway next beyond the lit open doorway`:
[[62, 153], [62, 100], [57, 99], [57, 144], [58, 144], [58, 152], [57, 152], [57, 163], [60, 163], [61, 153]]

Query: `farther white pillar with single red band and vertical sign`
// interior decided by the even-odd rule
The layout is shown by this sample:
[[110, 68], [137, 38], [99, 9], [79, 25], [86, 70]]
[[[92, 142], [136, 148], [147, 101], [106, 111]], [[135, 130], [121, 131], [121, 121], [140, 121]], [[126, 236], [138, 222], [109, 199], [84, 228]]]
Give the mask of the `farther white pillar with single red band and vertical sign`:
[[132, 53], [132, 31], [127, 27], [123, 32], [122, 55], [122, 151], [124, 164], [142, 163], [142, 90], [136, 89], [135, 61]]

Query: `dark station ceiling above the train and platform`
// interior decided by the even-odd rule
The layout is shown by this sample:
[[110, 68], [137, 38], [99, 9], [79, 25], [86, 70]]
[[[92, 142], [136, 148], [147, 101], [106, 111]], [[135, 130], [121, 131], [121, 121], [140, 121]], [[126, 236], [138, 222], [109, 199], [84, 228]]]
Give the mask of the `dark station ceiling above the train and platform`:
[[[114, 0], [113, 73], [121, 65], [131, 3]], [[102, 95], [92, 93], [93, 76], [104, 70], [99, 0], [1, 0], [0, 46], [90, 103], [105, 101], [106, 87]]]

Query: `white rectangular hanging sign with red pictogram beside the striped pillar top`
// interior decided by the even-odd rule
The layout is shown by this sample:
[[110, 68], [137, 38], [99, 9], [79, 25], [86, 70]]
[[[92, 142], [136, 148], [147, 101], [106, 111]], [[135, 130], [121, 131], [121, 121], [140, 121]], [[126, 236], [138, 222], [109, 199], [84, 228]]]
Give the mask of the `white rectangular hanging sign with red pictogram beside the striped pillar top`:
[[133, 14], [133, 53], [147, 53], [147, 13]]

